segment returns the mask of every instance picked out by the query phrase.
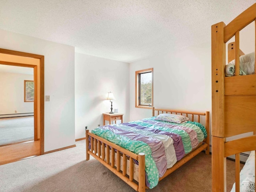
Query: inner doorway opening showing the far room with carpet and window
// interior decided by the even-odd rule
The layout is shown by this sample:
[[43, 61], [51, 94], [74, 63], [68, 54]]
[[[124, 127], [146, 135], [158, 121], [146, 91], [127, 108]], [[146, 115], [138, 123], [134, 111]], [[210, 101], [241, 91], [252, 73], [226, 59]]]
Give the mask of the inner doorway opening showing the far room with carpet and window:
[[0, 146], [38, 140], [34, 69], [0, 64]]

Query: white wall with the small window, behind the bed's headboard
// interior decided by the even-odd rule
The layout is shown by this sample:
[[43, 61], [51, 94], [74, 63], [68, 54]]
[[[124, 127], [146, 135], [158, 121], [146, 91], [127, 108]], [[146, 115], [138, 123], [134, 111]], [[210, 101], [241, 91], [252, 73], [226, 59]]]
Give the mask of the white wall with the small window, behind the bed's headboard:
[[130, 64], [130, 120], [151, 116], [151, 110], [135, 108], [135, 71], [154, 68], [154, 106], [211, 111], [210, 43], [169, 52]]

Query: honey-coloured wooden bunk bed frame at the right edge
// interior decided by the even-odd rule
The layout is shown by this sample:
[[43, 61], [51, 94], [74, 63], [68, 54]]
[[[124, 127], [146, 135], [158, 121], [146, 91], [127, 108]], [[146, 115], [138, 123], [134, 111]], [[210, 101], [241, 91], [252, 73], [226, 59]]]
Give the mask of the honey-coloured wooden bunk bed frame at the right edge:
[[[236, 156], [236, 192], [240, 191], [240, 153], [256, 150], [256, 74], [239, 76], [239, 32], [256, 22], [256, 4], [228, 25], [212, 25], [212, 191], [226, 191], [226, 157]], [[228, 62], [235, 61], [235, 76], [225, 77], [226, 43]], [[256, 63], [255, 63], [256, 68]], [[252, 136], [226, 142], [226, 138], [247, 132]]]

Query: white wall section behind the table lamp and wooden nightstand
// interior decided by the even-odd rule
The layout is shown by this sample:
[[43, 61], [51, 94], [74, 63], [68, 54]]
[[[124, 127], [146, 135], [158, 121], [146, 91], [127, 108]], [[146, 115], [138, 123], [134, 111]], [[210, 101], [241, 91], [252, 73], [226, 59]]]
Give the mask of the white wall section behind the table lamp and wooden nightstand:
[[103, 124], [102, 113], [110, 112], [110, 91], [116, 98], [113, 108], [128, 122], [129, 64], [75, 53], [76, 139], [85, 137], [85, 126], [92, 130]]

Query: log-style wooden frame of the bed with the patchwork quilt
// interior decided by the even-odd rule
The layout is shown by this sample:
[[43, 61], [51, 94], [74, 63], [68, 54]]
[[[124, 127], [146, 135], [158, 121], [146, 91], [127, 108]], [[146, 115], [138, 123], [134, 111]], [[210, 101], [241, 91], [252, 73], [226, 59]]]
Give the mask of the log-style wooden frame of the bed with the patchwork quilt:
[[[155, 112], [159, 113], [172, 113], [172, 114], [182, 114], [188, 116], [191, 121], [194, 121], [194, 116], [196, 116], [197, 122], [200, 122], [200, 116], [205, 117], [205, 128], [207, 131], [207, 138], [203, 141], [202, 145], [187, 154], [180, 161], [176, 162], [172, 168], [166, 170], [164, 176], [159, 178], [162, 180], [170, 173], [174, 172], [177, 168], [188, 162], [201, 151], [205, 150], [206, 154], [209, 154], [209, 116], [210, 112], [189, 112], [189, 111], [180, 111], [180, 110], [166, 110], [166, 109], [155, 109], [152, 107], [152, 116], [155, 116]], [[91, 149], [89, 150], [89, 136], [91, 142]], [[111, 149], [110, 149], [111, 148]], [[108, 140], [100, 138], [95, 134], [86, 130], [86, 160], [90, 160], [90, 155], [101, 162], [109, 170], [114, 172], [118, 177], [120, 177], [124, 182], [130, 185], [134, 190], [138, 192], [145, 192], [146, 183], [145, 183], [145, 155], [144, 153], [134, 154]], [[129, 158], [127, 157], [129, 156]], [[116, 161], [115, 161], [116, 158]], [[134, 160], [138, 160], [138, 180], [134, 178], [134, 167], [137, 166], [134, 164]], [[129, 169], [127, 168], [129, 165]], [[123, 171], [124, 170], [124, 171]]]

